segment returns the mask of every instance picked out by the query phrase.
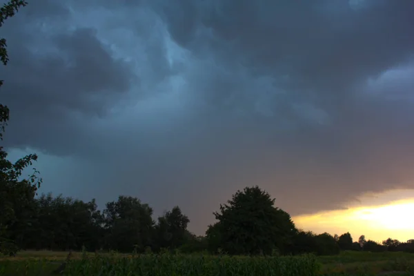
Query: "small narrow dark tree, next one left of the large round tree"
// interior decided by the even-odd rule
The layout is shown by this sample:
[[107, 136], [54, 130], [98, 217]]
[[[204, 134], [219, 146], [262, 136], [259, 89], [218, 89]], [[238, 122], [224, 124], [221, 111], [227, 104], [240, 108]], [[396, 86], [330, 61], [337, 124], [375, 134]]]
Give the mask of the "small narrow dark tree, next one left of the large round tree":
[[159, 217], [158, 224], [155, 226], [157, 246], [170, 249], [182, 246], [188, 238], [187, 226], [189, 222], [190, 219], [181, 212], [178, 206]]

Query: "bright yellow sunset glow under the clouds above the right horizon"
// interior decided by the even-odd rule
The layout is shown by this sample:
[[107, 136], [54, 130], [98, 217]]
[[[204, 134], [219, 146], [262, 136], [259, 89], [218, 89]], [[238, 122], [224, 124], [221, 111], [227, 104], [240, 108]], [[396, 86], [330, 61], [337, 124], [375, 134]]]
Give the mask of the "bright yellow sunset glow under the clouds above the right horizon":
[[354, 240], [359, 235], [382, 242], [391, 237], [406, 242], [414, 239], [414, 199], [392, 201], [381, 206], [334, 210], [314, 215], [293, 217], [298, 228], [315, 233], [341, 235], [349, 232]]

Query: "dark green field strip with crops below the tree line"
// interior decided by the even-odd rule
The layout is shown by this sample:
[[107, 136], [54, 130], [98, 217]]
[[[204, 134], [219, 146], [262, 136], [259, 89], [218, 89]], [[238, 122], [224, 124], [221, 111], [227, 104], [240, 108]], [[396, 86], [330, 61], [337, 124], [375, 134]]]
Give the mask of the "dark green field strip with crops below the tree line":
[[[53, 275], [68, 253], [22, 251], [0, 259], [2, 275]], [[73, 253], [63, 275], [414, 275], [414, 254], [344, 252], [337, 256], [228, 257]]]

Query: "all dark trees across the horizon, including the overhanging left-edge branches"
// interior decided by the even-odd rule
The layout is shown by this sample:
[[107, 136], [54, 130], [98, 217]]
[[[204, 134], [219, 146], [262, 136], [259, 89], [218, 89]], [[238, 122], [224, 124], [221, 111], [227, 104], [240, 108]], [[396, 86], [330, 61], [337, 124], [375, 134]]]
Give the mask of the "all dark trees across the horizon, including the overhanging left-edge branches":
[[[3, 3], [0, 27], [26, 5], [23, 0]], [[5, 66], [6, 46], [6, 39], [0, 39], [0, 61]], [[1, 140], [9, 113], [8, 107], [0, 104]], [[178, 206], [155, 221], [152, 208], [136, 197], [119, 196], [117, 201], [108, 202], [103, 211], [97, 208], [95, 199], [84, 202], [51, 194], [37, 197], [41, 185], [37, 170], [26, 179], [21, 177], [37, 155], [27, 155], [14, 163], [7, 157], [0, 146], [0, 253], [13, 255], [21, 249], [139, 253], [180, 250], [231, 255], [335, 255], [340, 250], [414, 252], [413, 240], [399, 242], [390, 238], [380, 244], [361, 236], [354, 242], [349, 233], [332, 236], [299, 230], [288, 213], [275, 207], [275, 199], [257, 186], [237, 191], [214, 213], [217, 222], [208, 226], [206, 235], [196, 236], [188, 231], [190, 220]]]

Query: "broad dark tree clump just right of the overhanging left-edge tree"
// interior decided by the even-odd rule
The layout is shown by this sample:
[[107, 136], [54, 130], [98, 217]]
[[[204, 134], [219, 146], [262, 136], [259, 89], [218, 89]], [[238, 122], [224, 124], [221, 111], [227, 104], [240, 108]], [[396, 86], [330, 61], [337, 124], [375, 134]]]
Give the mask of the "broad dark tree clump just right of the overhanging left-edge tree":
[[[30, 227], [23, 227], [26, 222]], [[95, 200], [83, 202], [71, 197], [41, 195], [34, 200], [30, 215], [13, 228], [12, 236], [21, 248], [49, 250], [98, 249], [103, 238], [103, 217]]]

